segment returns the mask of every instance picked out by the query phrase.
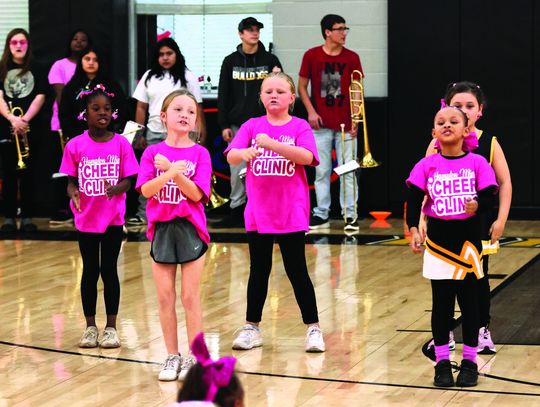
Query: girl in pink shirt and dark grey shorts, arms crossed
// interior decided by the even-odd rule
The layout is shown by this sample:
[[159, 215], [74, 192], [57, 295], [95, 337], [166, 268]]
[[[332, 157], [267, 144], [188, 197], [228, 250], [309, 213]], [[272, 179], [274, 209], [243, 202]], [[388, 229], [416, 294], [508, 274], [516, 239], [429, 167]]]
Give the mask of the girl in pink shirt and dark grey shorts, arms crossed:
[[170, 93], [160, 117], [167, 138], [144, 151], [137, 190], [148, 198], [147, 236], [168, 353], [159, 380], [171, 381], [179, 374], [183, 378], [196, 363], [191, 353], [178, 353], [176, 271], [181, 264], [181, 299], [191, 344], [202, 331], [201, 275], [210, 241], [203, 205], [210, 196], [212, 166], [208, 150], [189, 138], [197, 119], [197, 101], [189, 91]]

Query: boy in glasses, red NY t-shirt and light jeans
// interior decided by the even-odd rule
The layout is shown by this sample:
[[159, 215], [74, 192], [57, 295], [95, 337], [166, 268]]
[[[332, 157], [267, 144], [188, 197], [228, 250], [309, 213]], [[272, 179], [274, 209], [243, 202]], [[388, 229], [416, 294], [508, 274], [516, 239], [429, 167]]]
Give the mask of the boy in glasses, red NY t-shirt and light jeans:
[[[309, 221], [310, 229], [330, 226], [332, 144], [335, 143], [339, 165], [343, 164], [342, 144], [346, 159], [352, 158], [357, 129], [352, 127], [351, 122], [349, 85], [354, 70], [364, 74], [358, 54], [345, 48], [349, 27], [343, 17], [336, 14], [324, 16], [321, 20], [321, 32], [324, 44], [305, 52], [298, 78], [298, 93], [306, 107], [320, 158], [320, 165], [315, 167], [317, 205], [313, 208]], [[310, 82], [311, 97], [308, 92]], [[344, 143], [341, 141], [341, 123], [345, 124], [345, 140], [348, 140]], [[359, 230], [355, 205], [358, 188], [353, 188], [354, 182], [353, 174], [340, 177], [340, 206], [342, 214], [346, 208], [344, 229], [348, 232]], [[350, 192], [344, 194], [345, 190]], [[344, 202], [344, 198], [347, 202]]]

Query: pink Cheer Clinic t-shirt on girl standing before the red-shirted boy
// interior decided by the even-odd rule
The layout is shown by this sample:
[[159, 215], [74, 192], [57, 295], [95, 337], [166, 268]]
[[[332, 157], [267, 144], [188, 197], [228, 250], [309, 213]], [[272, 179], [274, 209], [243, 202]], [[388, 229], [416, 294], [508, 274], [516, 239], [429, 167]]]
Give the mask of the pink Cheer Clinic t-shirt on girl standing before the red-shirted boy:
[[[229, 147], [255, 147], [257, 134], [266, 134], [280, 143], [302, 147], [313, 154], [312, 166], [319, 165], [313, 131], [308, 122], [292, 117], [281, 126], [266, 116], [250, 119], [238, 130]], [[244, 212], [247, 231], [292, 233], [309, 229], [309, 188], [303, 165], [266, 149], [247, 165], [247, 205]]]

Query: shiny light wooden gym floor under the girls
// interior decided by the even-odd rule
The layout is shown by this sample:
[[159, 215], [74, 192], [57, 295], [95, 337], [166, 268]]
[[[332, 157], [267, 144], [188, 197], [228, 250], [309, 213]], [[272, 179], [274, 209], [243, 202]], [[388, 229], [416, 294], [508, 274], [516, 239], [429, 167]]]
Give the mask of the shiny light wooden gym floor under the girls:
[[[77, 347], [85, 324], [75, 233], [69, 227], [50, 229], [45, 219], [38, 226], [30, 236], [0, 235], [0, 407], [174, 402], [181, 383], [157, 380], [166, 352], [149, 243], [137, 241], [141, 230], [130, 231], [119, 257], [122, 347], [84, 350]], [[540, 341], [534, 339], [540, 336], [538, 291], [529, 298], [508, 289], [525, 275], [528, 286], [540, 285], [538, 273], [531, 275], [531, 267], [540, 264], [540, 222], [509, 222], [509, 238], [490, 259], [494, 302], [502, 298], [510, 304], [497, 308], [499, 319], [509, 324], [512, 315], [524, 315], [520, 328], [528, 329], [532, 340], [514, 335], [501, 343], [493, 330], [498, 352], [479, 357], [479, 385], [445, 390], [433, 386], [433, 364], [420, 351], [431, 337], [431, 291], [421, 276], [421, 256], [402, 239], [402, 220], [370, 226], [373, 222], [365, 220], [359, 234], [345, 236], [334, 221], [332, 229], [308, 235], [308, 267], [327, 345], [323, 354], [303, 351], [305, 327], [277, 247], [261, 324], [264, 346], [231, 350], [245, 315], [249, 253], [241, 230], [211, 230], [215, 243], [202, 290], [206, 338], [214, 356], [238, 358], [246, 405], [540, 405]], [[508, 298], [509, 292], [519, 298]], [[178, 312], [181, 350], [186, 351], [180, 304]], [[102, 328], [101, 291], [97, 319]], [[492, 327], [497, 321], [494, 314]], [[501, 332], [503, 326], [510, 329], [498, 326]], [[461, 360], [459, 343], [453, 358]]]

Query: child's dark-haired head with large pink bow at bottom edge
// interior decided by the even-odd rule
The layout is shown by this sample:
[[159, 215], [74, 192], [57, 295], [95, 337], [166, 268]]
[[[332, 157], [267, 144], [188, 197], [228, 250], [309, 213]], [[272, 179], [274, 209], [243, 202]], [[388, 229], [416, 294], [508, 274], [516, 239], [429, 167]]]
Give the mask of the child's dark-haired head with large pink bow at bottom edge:
[[236, 358], [225, 356], [213, 360], [202, 332], [193, 340], [191, 351], [197, 363], [189, 369], [178, 393], [180, 405], [188, 406], [187, 401], [200, 400], [219, 407], [243, 407], [244, 389], [234, 373]]

